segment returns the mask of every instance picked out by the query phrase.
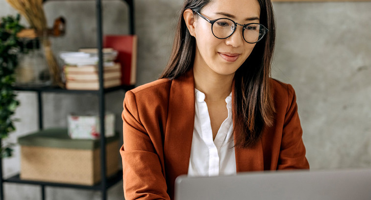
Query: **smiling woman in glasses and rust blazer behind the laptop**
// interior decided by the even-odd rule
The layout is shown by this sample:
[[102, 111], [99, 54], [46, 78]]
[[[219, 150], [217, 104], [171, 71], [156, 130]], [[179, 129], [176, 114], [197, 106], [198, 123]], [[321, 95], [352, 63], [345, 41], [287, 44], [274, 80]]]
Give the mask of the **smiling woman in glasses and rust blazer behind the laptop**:
[[183, 174], [309, 169], [274, 38], [270, 0], [185, 0], [161, 78], [125, 94], [126, 200], [173, 199]]

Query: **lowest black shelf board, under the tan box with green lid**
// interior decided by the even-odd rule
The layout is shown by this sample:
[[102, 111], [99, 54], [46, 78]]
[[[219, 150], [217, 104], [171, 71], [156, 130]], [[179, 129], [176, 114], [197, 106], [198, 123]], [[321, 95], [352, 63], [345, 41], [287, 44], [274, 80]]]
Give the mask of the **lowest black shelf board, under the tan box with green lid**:
[[[115, 175], [112, 177], [107, 178], [106, 188], [110, 188], [116, 183], [120, 182], [123, 179], [123, 171], [119, 170]], [[3, 180], [4, 182], [10, 183], [23, 183], [23, 184], [31, 184], [31, 185], [45, 185], [45, 186], [52, 186], [52, 187], [67, 187], [67, 188], [76, 188], [76, 189], [86, 189], [86, 190], [101, 190], [100, 182], [93, 186], [89, 185], [76, 185], [76, 184], [66, 184], [66, 183], [56, 183], [56, 182], [44, 182], [44, 181], [33, 181], [33, 180], [23, 180], [20, 178], [20, 175], [17, 174], [13, 177], [6, 178]]]

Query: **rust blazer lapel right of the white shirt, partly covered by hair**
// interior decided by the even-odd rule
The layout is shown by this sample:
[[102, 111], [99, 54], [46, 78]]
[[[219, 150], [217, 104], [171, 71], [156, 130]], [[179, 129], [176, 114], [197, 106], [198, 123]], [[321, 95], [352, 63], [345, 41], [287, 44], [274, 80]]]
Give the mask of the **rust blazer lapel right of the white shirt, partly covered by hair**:
[[[232, 85], [232, 108], [234, 108], [234, 83]], [[232, 110], [233, 119], [236, 116], [235, 110]], [[233, 120], [234, 121], [234, 120]], [[233, 139], [234, 144], [236, 145], [236, 140], [242, 134], [241, 127], [237, 123], [233, 123], [234, 132]], [[248, 172], [248, 171], [263, 171], [264, 170], [264, 161], [263, 161], [263, 148], [262, 141], [259, 139], [257, 144], [252, 148], [235, 148], [236, 156], [236, 170], [237, 172]]]

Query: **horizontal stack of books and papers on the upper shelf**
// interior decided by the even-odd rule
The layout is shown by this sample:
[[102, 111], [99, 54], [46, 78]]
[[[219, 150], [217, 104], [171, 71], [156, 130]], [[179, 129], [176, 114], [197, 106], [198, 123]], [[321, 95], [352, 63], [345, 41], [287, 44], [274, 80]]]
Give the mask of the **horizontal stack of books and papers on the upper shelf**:
[[[122, 85], [121, 64], [115, 63], [117, 52], [111, 48], [103, 49], [103, 87]], [[99, 69], [97, 49], [80, 49], [79, 52], [60, 54], [64, 60], [63, 68], [66, 89], [98, 90]]]

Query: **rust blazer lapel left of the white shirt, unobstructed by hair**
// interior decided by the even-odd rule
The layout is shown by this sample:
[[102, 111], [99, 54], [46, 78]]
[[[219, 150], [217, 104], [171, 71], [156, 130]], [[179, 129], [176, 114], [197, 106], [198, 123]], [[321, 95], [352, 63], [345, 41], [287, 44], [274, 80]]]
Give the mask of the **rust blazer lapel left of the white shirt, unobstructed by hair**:
[[[164, 138], [167, 174], [171, 179], [188, 173], [195, 121], [193, 70], [172, 81]], [[173, 181], [173, 180], [171, 180]]]

